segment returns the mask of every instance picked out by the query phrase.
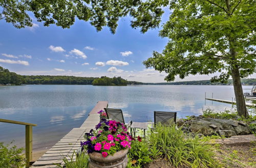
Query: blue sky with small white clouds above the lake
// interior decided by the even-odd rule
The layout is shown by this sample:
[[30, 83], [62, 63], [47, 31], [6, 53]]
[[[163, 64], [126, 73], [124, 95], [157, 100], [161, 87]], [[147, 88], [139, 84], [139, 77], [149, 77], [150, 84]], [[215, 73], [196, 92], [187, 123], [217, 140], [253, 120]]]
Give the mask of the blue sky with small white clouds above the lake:
[[[161, 52], [168, 39], [159, 30], [145, 34], [132, 29], [130, 18], [119, 21], [116, 34], [108, 27], [96, 32], [89, 22], [76, 20], [70, 29], [56, 25], [16, 29], [0, 20], [0, 66], [22, 75], [121, 76], [127, 80], [163, 82], [165, 73], [145, 69], [152, 52]], [[183, 80], [210, 79], [214, 74]], [[252, 75], [251, 77], [256, 77]], [[177, 78], [175, 81], [181, 81]]]

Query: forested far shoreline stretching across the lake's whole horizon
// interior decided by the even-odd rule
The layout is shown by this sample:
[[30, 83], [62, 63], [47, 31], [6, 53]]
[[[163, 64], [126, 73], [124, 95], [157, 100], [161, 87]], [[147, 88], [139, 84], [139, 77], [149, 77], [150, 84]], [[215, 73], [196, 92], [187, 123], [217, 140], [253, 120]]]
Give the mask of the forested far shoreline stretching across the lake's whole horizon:
[[[255, 85], [256, 78], [241, 79], [243, 85]], [[0, 66], [0, 85], [100, 85], [100, 86], [126, 86], [126, 85], [232, 85], [232, 80], [227, 83], [210, 80], [193, 80], [179, 82], [144, 83], [127, 81], [121, 77], [77, 77], [77, 76], [52, 76], [52, 75], [19, 75]]]

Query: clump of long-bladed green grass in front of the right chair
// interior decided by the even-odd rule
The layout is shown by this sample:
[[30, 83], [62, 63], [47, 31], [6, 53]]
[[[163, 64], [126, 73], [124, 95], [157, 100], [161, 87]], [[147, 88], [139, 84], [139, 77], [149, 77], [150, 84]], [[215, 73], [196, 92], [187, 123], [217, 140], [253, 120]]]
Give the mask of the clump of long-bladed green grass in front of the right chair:
[[206, 140], [181, 129], [157, 124], [154, 132], [148, 134], [150, 148], [157, 149], [175, 167], [217, 167], [213, 149]]

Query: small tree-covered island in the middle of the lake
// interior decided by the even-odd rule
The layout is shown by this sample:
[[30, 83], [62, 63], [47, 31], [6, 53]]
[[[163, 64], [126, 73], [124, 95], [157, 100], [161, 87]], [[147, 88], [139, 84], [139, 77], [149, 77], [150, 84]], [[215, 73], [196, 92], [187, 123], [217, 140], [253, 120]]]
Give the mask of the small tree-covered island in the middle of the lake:
[[101, 76], [98, 79], [93, 80], [94, 86], [127, 86], [127, 80], [119, 77], [106, 77]]

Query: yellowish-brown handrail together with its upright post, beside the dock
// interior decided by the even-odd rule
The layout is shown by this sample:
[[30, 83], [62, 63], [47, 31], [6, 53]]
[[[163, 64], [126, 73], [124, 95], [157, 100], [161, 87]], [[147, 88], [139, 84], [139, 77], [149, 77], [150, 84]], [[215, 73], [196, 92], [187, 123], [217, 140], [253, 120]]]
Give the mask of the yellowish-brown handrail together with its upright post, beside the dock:
[[31, 124], [31, 123], [24, 123], [24, 122], [19, 122], [19, 121], [14, 121], [14, 120], [5, 120], [5, 119], [0, 119], [0, 122], [4, 123], [11, 123], [11, 124], [20, 124], [20, 125], [25, 125], [26, 126], [26, 167], [30, 166], [30, 161], [32, 160], [32, 126], [37, 126], [37, 124]]

